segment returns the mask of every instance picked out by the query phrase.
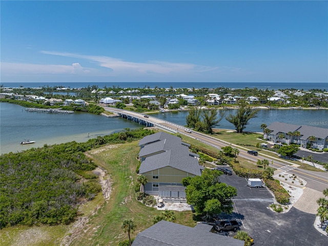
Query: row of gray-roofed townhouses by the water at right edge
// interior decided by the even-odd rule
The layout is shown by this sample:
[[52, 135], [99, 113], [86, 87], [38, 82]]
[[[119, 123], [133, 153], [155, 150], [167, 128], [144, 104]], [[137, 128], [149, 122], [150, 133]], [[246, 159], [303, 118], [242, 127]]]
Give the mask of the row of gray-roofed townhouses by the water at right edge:
[[[267, 128], [270, 129], [270, 133], [264, 133], [263, 137], [274, 143], [295, 143], [301, 148], [307, 148], [310, 144], [312, 148], [320, 150], [328, 148], [328, 128], [281, 122], [274, 122]], [[283, 138], [279, 137], [281, 134]]]

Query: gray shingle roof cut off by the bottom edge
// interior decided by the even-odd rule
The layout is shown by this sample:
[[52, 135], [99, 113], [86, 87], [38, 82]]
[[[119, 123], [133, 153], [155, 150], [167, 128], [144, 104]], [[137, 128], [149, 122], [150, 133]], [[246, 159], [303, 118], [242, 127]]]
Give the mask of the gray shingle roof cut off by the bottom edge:
[[165, 220], [159, 221], [145, 231], [140, 232], [133, 246], [243, 246], [244, 241], [221, 236], [208, 231], [206, 225], [191, 228], [186, 225], [176, 224]]

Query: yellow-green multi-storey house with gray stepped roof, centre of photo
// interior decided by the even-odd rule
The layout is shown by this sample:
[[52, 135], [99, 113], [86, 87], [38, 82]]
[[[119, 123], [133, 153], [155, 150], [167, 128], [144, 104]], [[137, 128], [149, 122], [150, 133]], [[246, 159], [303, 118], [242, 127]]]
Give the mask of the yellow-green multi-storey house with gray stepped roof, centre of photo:
[[166, 198], [186, 198], [182, 179], [201, 175], [199, 155], [189, 152], [181, 138], [156, 133], [139, 141], [139, 174], [147, 177], [145, 192]]

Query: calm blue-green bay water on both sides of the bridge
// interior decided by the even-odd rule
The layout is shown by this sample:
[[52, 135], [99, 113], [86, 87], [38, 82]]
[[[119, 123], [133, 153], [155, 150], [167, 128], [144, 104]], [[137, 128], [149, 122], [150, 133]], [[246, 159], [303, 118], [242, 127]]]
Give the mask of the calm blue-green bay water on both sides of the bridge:
[[[227, 114], [234, 110], [227, 110]], [[180, 125], [186, 124], [188, 111], [158, 113], [155, 117]], [[262, 109], [258, 117], [251, 119], [245, 130], [262, 131], [260, 125], [280, 121], [290, 124], [311, 125], [328, 128], [328, 110]], [[138, 128], [139, 124], [121, 118], [107, 118], [90, 113], [72, 113], [70, 115], [28, 112], [24, 107], [0, 103], [0, 152], [1, 154], [42, 147], [44, 144], [64, 142], [84, 142], [90, 138], [104, 136], [121, 131], [124, 128]], [[217, 128], [234, 129], [223, 119]], [[36, 141], [34, 144], [19, 144], [24, 139]]]

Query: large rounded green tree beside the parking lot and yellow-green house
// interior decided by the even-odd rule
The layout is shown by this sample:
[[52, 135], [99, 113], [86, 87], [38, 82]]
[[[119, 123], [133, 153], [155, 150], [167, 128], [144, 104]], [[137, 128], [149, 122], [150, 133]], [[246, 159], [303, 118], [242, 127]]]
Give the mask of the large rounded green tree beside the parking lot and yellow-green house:
[[205, 169], [201, 176], [182, 179], [182, 184], [186, 186], [187, 202], [194, 206], [196, 213], [201, 215], [232, 213], [231, 199], [237, 196], [237, 189], [221, 183], [220, 174], [219, 171]]

